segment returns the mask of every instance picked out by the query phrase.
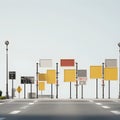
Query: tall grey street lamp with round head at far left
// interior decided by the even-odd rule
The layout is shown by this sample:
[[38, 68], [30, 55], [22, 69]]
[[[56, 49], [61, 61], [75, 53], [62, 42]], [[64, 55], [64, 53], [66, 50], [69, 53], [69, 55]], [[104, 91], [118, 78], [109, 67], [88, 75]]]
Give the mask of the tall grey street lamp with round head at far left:
[[9, 45], [9, 41], [5, 41], [5, 45], [6, 45], [6, 98], [9, 98], [8, 95], [8, 45]]

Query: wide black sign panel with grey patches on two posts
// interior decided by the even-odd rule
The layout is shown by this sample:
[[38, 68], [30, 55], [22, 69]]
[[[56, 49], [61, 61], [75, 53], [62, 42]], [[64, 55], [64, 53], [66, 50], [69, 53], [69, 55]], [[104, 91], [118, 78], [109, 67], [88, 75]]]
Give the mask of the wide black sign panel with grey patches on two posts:
[[21, 84], [34, 84], [34, 77], [32, 76], [22, 76]]

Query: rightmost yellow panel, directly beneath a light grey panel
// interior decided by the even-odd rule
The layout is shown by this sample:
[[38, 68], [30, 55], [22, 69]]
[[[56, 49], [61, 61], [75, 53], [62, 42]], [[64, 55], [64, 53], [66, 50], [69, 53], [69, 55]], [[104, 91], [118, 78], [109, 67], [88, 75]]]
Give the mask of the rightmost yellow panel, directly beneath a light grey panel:
[[104, 68], [104, 80], [118, 80], [118, 69]]

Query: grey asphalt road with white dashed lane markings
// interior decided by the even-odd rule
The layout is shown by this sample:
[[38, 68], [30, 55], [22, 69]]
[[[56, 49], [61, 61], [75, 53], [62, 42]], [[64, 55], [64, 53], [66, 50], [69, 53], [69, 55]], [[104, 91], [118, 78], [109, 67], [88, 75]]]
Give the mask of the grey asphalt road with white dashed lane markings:
[[119, 120], [120, 100], [0, 101], [0, 120]]

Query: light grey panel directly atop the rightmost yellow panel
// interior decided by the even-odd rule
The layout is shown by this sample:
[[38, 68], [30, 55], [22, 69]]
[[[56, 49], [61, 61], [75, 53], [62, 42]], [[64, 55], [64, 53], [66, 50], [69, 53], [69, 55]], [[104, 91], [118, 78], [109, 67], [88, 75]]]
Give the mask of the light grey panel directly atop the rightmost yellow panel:
[[117, 68], [117, 59], [105, 59], [105, 67]]

